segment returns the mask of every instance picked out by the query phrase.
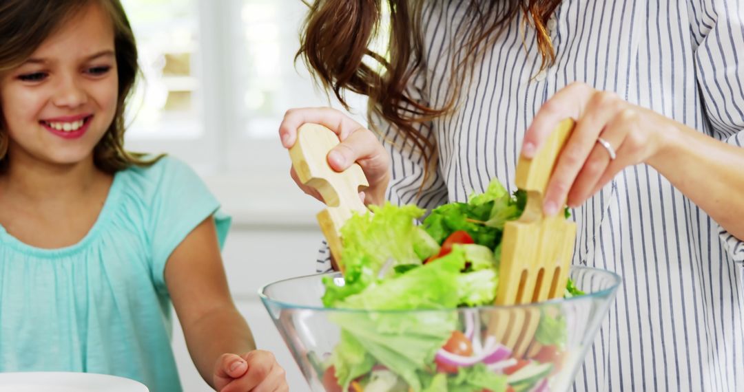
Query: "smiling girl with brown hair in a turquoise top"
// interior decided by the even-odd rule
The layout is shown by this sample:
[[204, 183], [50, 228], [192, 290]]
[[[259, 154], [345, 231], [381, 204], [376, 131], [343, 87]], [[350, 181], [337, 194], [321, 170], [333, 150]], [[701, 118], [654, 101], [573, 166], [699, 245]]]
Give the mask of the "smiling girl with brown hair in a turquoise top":
[[137, 52], [117, 0], [0, 3], [0, 371], [179, 391], [170, 307], [221, 391], [286, 391], [225, 281], [229, 219], [187, 166], [122, 146]]

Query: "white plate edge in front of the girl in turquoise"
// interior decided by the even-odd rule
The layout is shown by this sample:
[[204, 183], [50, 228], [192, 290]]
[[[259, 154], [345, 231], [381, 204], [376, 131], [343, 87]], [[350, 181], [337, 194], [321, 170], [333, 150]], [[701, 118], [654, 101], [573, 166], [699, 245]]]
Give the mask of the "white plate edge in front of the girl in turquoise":
[[0, 373], [1, 392], [148, 392], [139, 382], [94, 373]]

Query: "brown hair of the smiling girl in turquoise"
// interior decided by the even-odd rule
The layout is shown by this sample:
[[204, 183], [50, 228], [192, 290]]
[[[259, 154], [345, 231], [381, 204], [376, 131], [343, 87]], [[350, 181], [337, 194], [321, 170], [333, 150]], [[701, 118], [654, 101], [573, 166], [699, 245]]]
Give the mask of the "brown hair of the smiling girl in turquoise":
[[[124, 108], [139, 73], [132, 27], [119, 0], [3, 0], [0, 2], [0, 74], [18, 67], [62, 23], [90, 4], [100, 4], [114, 26], [119, 91], [114, 120], [93, 151], [98, 169], [114, 173], [132, 165], [149, 166], [144, 154], [124, 150]], [[0, 105], [0, 112], [2, 107]], [[0, 117], [0, 171], [7, 169], [8, 134]]]

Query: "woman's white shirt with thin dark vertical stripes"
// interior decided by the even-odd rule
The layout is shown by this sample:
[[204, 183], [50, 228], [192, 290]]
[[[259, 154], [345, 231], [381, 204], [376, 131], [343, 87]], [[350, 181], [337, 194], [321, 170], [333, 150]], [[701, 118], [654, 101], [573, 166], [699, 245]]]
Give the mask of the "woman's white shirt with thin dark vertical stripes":
[[[423, 13], [426, 67], [408, 91], [434, 107], [450, 88], [466, 1], [430, 1]], [[744, 146], [744, 0], [566, 0], [548, 29], [555, 65], [539, 73], [535, 35], [514, 20], [478, 59], [454, 114], [421, 125], [438, 161], [420, 194], [422, 159], [379, 122], [390, 200], [432, 209], [483, 192], [493, 177], [513, 191], [525, 129], [574, 81]], [[644, 164], [571, 216], [574, 264], [624, 281], [574, 389], [744, 391], [744, 242]], [[329, 268], [326, 251], [318, 270]]]

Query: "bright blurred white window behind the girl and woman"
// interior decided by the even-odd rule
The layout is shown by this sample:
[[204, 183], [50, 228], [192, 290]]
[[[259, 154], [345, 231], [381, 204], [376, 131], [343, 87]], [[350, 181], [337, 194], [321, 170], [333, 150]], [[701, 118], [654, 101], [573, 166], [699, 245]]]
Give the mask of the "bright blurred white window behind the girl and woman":
[[[299, 0], [122, 0], [144, 80], [127, 147], [165, 151], [202, 174], [288, 177], [278, 141], [288, 108], [329, 105], [295, 53]], [[365, 108], [361, 97], [350, 97]], [[339, 105], [334, 101], [334, 106]], [[364, 111], [353, 114], [365, 123]]]

